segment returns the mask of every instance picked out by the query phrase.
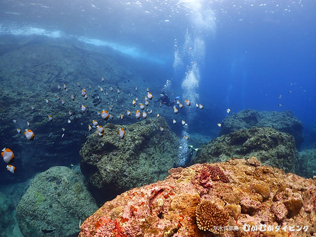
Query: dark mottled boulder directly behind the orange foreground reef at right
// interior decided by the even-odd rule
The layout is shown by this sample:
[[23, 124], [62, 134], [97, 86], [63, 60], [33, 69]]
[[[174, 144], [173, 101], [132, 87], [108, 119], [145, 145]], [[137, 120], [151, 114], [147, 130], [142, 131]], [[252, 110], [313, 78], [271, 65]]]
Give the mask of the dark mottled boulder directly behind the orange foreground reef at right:
[[203, 146], [193, 163], [251, 157], [258, 158], [263, 164], [293, 172], [298, 157], [294, 137], [271, 127], [240, 129]]

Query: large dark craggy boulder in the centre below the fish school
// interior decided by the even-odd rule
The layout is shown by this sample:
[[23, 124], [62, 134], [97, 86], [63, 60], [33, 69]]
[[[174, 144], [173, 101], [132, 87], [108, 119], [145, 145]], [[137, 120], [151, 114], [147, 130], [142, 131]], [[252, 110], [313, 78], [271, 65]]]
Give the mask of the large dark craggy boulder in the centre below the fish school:
[[[125, 130], [122, 139], [118, 137], [121, 127]], [[82, 146], [80, 167], [98, 197], [115, 197], [165, 178], [178, 159], [177, 146], [178, 138], [164, 118], [131, 125], [108, 123], [103, 137], [96, 131]]]

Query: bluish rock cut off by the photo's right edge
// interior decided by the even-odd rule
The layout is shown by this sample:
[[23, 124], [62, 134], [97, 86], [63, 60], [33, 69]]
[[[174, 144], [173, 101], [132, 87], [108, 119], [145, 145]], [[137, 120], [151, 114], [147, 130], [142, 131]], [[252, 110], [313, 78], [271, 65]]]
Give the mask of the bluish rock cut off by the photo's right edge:
[[297, 164], [297, 174], [306, 178], [312, 178], [316, 175], [316, 149], [307, 149], [299, 152]]

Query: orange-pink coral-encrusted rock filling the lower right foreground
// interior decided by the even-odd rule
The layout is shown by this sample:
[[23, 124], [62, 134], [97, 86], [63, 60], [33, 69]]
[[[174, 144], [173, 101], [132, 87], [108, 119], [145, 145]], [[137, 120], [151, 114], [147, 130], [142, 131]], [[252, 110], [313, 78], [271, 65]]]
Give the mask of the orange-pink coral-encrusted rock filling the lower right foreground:
[[172, 168], [164, 181], [106, 202], [79, 237], [315, 235], [316, 181], [253, 160]]

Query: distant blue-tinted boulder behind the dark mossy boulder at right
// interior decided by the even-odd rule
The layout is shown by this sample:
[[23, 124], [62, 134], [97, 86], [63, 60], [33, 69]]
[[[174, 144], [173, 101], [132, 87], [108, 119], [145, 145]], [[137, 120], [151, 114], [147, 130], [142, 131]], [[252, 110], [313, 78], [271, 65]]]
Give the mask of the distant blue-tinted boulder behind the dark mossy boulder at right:
[[304, 141], [302, 122], [294, 117], [291, 111], [258, 112], [256, 110], [242, 110], [234, 113], [222, 121], [219, 135], [226, 135], [238, 129], [257, 127], [273, 127], [286, 132], [295, 138], [296, 147], [300, 148]]

